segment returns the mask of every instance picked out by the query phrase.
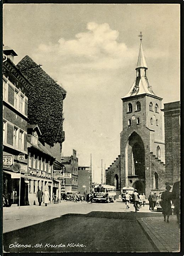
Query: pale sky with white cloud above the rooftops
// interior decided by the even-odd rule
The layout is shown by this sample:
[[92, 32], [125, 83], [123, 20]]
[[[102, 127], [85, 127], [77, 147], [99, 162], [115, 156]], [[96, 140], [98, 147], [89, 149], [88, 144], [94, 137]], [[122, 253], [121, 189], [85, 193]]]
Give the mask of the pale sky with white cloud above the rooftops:
[[77, 150], [95, 182], [120, 150], [122, 100], [136, 77], [140, 31], [147, 78], [180, 100], [179, 4], [4, 4], [3, 43], [29, 55], [67, 91], [62, 155]]

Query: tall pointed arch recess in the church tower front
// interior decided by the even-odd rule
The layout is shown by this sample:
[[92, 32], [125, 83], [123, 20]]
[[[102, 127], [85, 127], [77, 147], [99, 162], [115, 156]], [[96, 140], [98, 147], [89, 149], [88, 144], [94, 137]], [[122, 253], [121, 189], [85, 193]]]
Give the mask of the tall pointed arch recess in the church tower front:
[[125, 157], [127, 185], [132, 180], [132, 186], [139, 193], [145, 193], [145, 149], [143, 140], [136, 132], [128, 139]]

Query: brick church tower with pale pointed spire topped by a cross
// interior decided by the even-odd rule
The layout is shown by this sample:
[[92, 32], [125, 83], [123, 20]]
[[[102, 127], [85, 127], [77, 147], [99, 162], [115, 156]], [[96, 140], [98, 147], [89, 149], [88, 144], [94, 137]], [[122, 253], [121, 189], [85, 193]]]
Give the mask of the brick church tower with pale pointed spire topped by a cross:
[[136, 78], [128, 94], [122, 97], [121, 188], [134, 187], [146, 196], [165, 189], [162, 98], [153, 92], [147, 69], [140, 33]]

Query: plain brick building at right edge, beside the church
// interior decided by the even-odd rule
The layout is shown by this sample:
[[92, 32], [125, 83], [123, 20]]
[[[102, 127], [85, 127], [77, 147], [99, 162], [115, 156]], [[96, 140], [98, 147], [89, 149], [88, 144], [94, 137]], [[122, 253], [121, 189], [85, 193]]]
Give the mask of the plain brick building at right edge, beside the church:
[[166, 183], [180, 180], [180, 101], [164, 104]]

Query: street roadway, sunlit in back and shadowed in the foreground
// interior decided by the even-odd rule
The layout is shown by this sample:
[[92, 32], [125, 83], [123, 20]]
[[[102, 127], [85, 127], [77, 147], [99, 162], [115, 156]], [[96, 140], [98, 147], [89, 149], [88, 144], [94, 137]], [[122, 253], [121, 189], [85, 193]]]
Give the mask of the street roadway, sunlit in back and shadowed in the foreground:
[[162, 213], [150, 212], [148, 205], [138, 213], [132, 204], [127, 210], [118, 201], [108, 204], [62, 201], [47, 208], [13, 207], [14, 212], [11, 208], [4, 209], [5, 252], [159, 251], [138, 221], [162, 217]]

